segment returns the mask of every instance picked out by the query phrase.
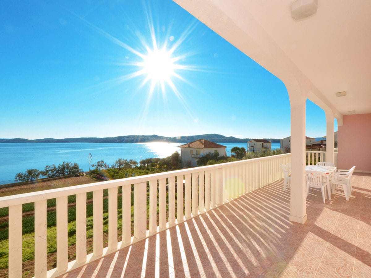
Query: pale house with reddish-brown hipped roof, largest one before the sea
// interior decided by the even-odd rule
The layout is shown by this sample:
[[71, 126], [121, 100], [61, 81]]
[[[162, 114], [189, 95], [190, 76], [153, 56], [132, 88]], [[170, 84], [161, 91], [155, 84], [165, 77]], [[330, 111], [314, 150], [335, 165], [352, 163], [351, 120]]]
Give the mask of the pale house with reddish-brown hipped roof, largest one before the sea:
[[226, 146], [205, 140], [199, 139], [184, 145], [180, 148], [180, 158], [182, 167], [196, 167], [197, 159], [207, 153], [218, 152], [219, 156], [226, 156]]

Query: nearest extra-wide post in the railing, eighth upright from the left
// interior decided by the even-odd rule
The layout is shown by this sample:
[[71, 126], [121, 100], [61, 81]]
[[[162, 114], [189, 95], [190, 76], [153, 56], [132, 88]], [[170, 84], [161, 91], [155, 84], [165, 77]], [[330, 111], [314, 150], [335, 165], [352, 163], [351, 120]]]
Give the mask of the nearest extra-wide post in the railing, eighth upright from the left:
[[144, 238], [146, 235], [146, 231], [147, 231], [147, 182], [141, 182], [134, 184], [134, 237], [137, 239]]

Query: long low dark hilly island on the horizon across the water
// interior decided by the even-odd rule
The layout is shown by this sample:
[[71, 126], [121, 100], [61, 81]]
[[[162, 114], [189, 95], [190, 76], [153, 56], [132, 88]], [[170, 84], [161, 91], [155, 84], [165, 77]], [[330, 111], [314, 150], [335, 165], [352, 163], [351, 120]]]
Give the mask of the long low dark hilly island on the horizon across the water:
[[[223, 136], [220, 134], [202, 134], [202, 135], [191, 135], [191, 136], [175, 136], [165, 137], [160, 135], [126, 135], [117, 137], [81, 137], [81, 138], [65, 138], [65, 139], [0, 139], [0, 143], [148, 143], [148, 142], [168, 142], [168, 143], [184, 143], [192, 142], [198, 139], [206, 139], [213, 142], [219, 143], [247, 143], [254, 138], [236, 138], [233, 136]], [[259, 138], [266, 139], [272, 143], [280, 143], [280, 139], [272, 138]]]

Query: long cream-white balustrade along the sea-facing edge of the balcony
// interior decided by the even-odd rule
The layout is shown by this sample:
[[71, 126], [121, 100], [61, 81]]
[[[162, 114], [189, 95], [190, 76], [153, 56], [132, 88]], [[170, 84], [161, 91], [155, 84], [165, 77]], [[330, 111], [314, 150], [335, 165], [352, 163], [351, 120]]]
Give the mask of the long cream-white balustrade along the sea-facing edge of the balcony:
[[[325, 159], [325, 155], [321, 152], [307, 152], [307, 157], [312, 160], [318, 160], [320, 155], [322, 155], [321, 160]], [[9, 277], [22, 276], [22, 205], [24, 203], [35, 202], [35, 276], [56, 277], [123, 248], [135, 240], [155, 234], [283, 178], [280, 165], [288, 162], [290, 162], [290, 154], [267, 156], [1, 197], [0, 208], [9, 207], [9, 231], [12, 231], [9, 232]], [[118, 242], [117, 238], [118, 188], [122, 188], [121, 242]], [[108, 189], [108, 246], [103, 248], [105, 189]], [[86, 255], [86, 194], [88, 192], [93, 192], [93, 252]], [[68, 262], [68, 196], [70, 195], [76, 195], [76, 260], [72, 262]], [[133, 204], [132, 195], [134, 195]], [[46, 200], [52, 198], [56, 198], [57, 204], [57, 267], [46, 271]], [[132, 205], [134, 206], [133, 223], [131, 222]]]

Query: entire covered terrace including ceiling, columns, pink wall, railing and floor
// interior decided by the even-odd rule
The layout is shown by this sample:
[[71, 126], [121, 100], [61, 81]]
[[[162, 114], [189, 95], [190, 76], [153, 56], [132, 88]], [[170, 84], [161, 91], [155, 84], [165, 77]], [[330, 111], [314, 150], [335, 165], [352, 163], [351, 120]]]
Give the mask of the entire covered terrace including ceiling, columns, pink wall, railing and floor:
[[[22, 204], [28, 202], [35, 202], [36, 277], [370, 276], [371, 149], [365, 146], [371, 138], [371, 2], [318, 1], [316, 14], [297, 21], [291, 17], [289, 0], [175, 2], [286, 85], [291, 155], [0, 198], [0, 207], [9, 207], [12, 231], [9, 276], [22, 276]], [[342, 91], [347, 91], [345, 96], [337, 97], [336, 92]], [[361, 171], [352, 178], [349, 201], [341, 191], [335, 191], [325, 204], [314, 190], [306, 199], [306, 99], [325, 110], [324, 159], [337, 162], [338, 168], [355, 165]], [[279, 165], [289, 161], [291, 189], [284, 192]], [[184, 191], [183, 186], [175, 186], [183, 180]], [[105, 189], [109, 212], [104, 245]], [[123, 196], [121, 219], [118, 189]], [[94, 236], [93, 252], [87, 255], [86, 193], [91, 191]], [[66, 210], [70, 195], [76, 195], [76, 252], [69, 262]], [[51, 198], [57, 198], [57, 255], [56, 268], [47, 271], [46, 200]], [[118, 221], [122, 221], [120, 237]]]

